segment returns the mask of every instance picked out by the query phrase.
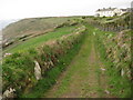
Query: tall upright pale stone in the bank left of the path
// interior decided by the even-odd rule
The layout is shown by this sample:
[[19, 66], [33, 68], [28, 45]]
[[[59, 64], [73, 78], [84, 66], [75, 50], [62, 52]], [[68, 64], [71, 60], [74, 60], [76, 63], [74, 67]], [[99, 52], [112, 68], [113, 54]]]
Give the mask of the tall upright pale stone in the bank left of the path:
[[35, 67], [34, 67], [34, 76], [37, 78], [37, 80], [40, 80], [41, 79], [41, 68], [39, 66], [39, 62], [38, 61], [34, 61], [35, 63]]

